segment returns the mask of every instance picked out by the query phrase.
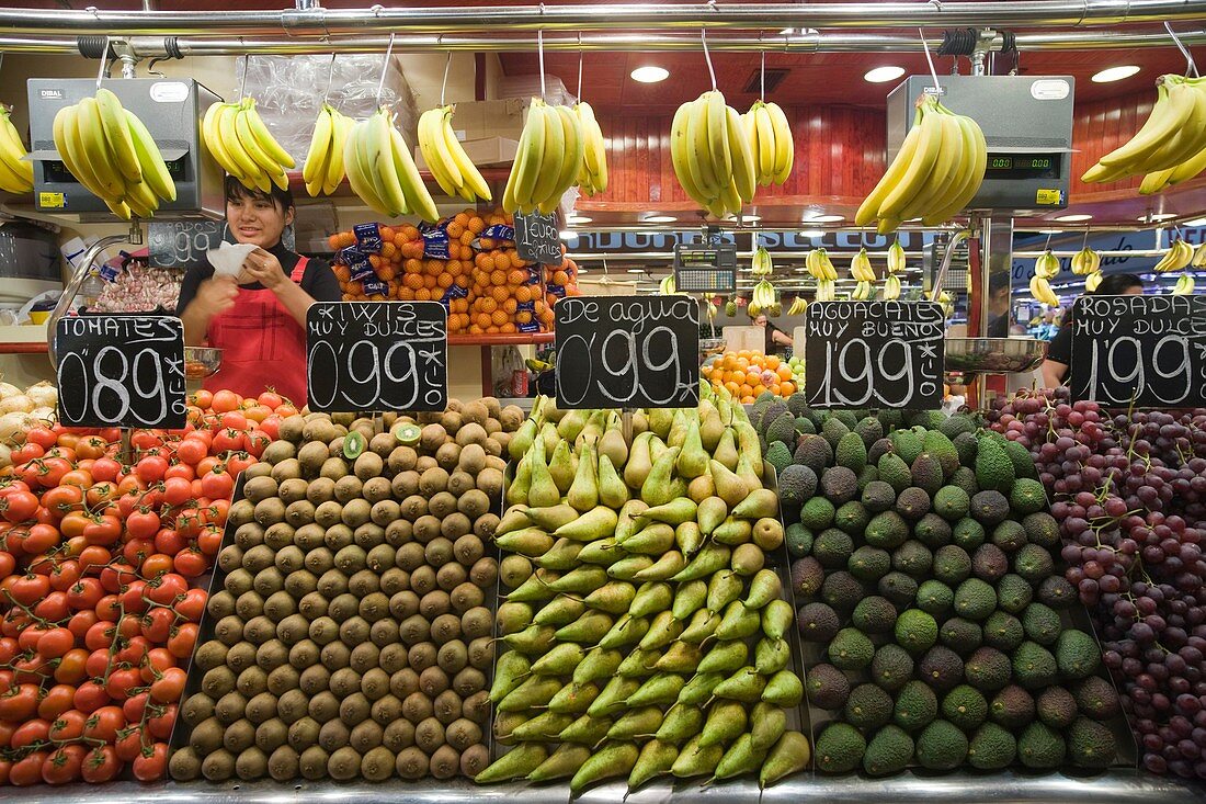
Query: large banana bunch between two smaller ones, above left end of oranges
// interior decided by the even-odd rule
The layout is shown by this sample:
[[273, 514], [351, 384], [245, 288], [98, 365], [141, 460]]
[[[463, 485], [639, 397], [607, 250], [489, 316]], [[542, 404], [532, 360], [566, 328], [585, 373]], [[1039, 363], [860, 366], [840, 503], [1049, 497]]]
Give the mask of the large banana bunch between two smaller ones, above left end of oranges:
[[417, 215], [434, 223], [440, 214], [406, 141], [385, 106], [357, 122], [344, 145], [347, 183], [361, 200], [387, 217]]

